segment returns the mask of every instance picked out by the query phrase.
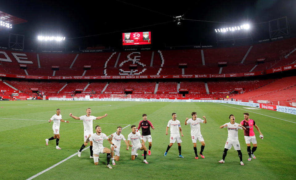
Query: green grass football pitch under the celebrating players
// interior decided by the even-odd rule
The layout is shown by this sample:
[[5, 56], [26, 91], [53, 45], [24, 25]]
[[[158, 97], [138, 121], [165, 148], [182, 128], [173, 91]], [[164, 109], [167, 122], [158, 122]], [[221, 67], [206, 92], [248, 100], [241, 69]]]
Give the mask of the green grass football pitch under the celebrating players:
[[[131, 148], [125, 150], [122, 141], [120, 161], [111, 165], [112, 170], [106, 167], [106, 154], [100, 155], [99, 165], [95, 166], [93, 159], [89, 158], [90, 150], [85, 149], [80, 158], [75, 155], [34, 179], [295, 179], [295, 115], [218, 103], [42, 100], [0, 102], [0, 179], [30, 178], [77, 153], [83, 143], [83, 123], [69, 117], [69, 113], [78, 117], [84, 115], [89, 107], [93, 116], [108, 114], [108, 117], [94, 121], [94, 126], [100, 125], [107, 136], [114, 133], [120, 124], [122, 127], [128, 125], [122, 131], [127, 138], [131, 132], [130, 126], [138, 126], [142, 114], [146, 113], [155, 126], [154, 130], [151, 129], [152, 149], [151, 155], [147, 156], [149, 164], [143, 163], [143, 156], [131, 161]], [[55, 140], [45, 145], [45, 139], [53, 135], [52, 122], [48, 123], [48, 120], [55, 114], [56, 108], [61, 109], [64, 120], [70, 121], [60, 126], [61, 150], [55, 149]], [[193, 111], [197, 112], [198, 117], [207, 118], [207, 123], [201, 125], [205, 140], [204, 159], [194, 159], [190, 126], [184, 125], [186, 117], [190, 118]], [[165, 128], [173, 112], [177, 113], [177, 119], [181, 122], [184, 134], [181, 137], [182, 155], [185, 158], [178, 157], [177, 143], [166, 157], [163, 156], [169, 145]], [[243, 112], [250, 113], [250, 118], [256, 121], [264, 135], [261, 140], [254, 129], [258, 143], [254, 153], [257, 159], [247, 161], [244, 134], [239, 130], [245, 165], [240, 166], [237, 151], [233, 148], [228, 150], [225, 164], [220, 164], [218, 161], [222, 159], [227, 129], [219, 129], [219, 126], [229, 122], [230, 114], [234, 114], [236, 122], [240, 123]], [[199, 152], [200, 143], [197, 145]], [[110, 148], [106, 140], [104, 146]]]

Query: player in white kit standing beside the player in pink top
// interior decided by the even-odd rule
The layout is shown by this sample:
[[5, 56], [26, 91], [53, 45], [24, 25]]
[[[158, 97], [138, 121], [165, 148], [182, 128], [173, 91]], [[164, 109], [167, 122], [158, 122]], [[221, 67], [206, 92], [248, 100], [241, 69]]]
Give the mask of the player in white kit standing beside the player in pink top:
[[242, 152], [240, 151], [240, 142], [239, 142], [239, 137], [238, 137], [238, 130], [239, 129], [244, 129], [246, 128], [238, 123], [235, 122], [235, 117], [233, 114], [229, 116], [230, 122], [225, 123], [224, 125], [220, 126], [220, 128], [227, 128], [228, 130], [228, 137], [227, 141], [224, 146], [224, 151], [223, 151], [223, 159], [221, 159], [219, 162], [224, 163], [225, 157], [227, 155], [227, 150], [231, 149], [233, 146], [235, 150], [237, 150], [239, 157], [240, 157], [240, 165], [244, 165], [243, 163], [243, 157], [242, 157]]

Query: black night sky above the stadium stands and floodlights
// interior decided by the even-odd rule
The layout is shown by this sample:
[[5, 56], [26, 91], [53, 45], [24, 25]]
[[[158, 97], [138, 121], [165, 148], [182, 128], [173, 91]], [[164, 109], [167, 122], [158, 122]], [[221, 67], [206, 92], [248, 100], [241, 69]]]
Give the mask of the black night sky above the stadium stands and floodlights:
[[[69, 49], [102, 44], [121, 47], [121, 33], [151, 31], [153, 46], [215, 43], [215, 28], [250, 23], [254, 39], [269, 38], [269, 20], [287, 16], [292, 33], [296, 25], [295, 0], [249, 1], [5, 1], [0, 11], [26, 19], [10, 33], [25, 35], [33, 48], [38, 35], [62, 35]], [[181, 26], [176, 16], [183, 15]], [[215, 21], [215, 22], [201, 22]], [[162, 23], [162, 24], [161, 24]], [[259, 24], [258, 24], [259, 23]], [[146, 26], [146, 27], [145, 27]], [[113, 33], [112, 33], [113, 32]], [[1, 35], [3, 35], [3, 31]], [[91, 36], [95, 35], [95, 36]], [[89, 36], [89, 37], [83, 37]], [[78, 38], [83, 37], [83, 38]], [[71, 39], [74, 38], [74, 39]], [[27, 45], [27, 46], [26, 46]]]

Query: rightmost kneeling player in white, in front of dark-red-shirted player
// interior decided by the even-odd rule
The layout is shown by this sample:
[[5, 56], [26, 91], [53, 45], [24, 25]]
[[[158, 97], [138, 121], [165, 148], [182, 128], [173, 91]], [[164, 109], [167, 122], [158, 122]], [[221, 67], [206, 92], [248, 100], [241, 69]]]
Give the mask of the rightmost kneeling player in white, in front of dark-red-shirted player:
[[[142, 143], [140, 143], [140, 141]], [[130, 144], [131, 141], [131, 144]], [[137, 128], [135, 125], [131, 126], [131, 133], [127, 136], [127, 143], [129, 146], [131, 146], [131, 160], [135, 160], [135, 158], [138, 156], [137, 151], [140, 149], [141, 151], [144, 150], [144, 163], [148, 164], [146, 161], [146, 156], [147, 156], [147, 148], [145, 146], [145, 142], [140, 135], [139, 132], [137, 132]]]

